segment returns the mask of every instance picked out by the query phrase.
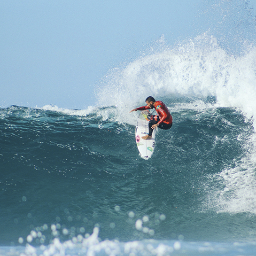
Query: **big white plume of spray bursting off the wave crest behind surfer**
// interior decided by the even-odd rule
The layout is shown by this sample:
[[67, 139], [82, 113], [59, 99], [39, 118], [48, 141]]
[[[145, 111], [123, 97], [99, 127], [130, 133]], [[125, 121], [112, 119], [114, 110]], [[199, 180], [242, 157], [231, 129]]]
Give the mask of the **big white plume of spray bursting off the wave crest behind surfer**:
[[235, 57], [205, 33], [112, 71], [99, 89], [99, 103], [128, 112], [144, 104], [148, 95], [156, 99], [167, 95], [192, 99], [215, 96], [218, 106], [239, 108], [251, 118], [256, 114], [255, 70], [256, 47]]

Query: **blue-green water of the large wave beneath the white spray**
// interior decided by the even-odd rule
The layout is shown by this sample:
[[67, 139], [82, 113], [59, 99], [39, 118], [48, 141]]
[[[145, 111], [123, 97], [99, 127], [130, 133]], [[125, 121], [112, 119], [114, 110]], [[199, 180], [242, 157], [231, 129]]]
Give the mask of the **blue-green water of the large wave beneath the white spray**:
[[239, 165], [250, 154], [252, 122], [234, 108], [177, 101], [165, 99], [174, 124], [157, 132], [149, 160], [139, 155], [135, 126], [115, 121], [116, 107], [89, 114], [0, 109], [0, 244], [29, 240], [39, 248], [56, 237], [76, 244], [96, 227], [101, 243], [123, 242], [119, 248], [145, 239], [156, 248], [163, 241], [175, 248], [178, 241], [181, 249], [195, 247], [187, 249], [191, 255], [223, 243], [251, 248], [255, 175], [251, 163]]

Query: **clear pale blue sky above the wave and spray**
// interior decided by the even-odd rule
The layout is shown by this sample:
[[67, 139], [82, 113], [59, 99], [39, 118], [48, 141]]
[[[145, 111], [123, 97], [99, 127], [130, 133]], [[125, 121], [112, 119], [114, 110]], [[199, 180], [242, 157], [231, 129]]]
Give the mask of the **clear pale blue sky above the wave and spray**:
[[193, 36], [202, 2], [0, 0], [0, 107], [94, 105], [109, 69], [161, 35], [169, 44]]

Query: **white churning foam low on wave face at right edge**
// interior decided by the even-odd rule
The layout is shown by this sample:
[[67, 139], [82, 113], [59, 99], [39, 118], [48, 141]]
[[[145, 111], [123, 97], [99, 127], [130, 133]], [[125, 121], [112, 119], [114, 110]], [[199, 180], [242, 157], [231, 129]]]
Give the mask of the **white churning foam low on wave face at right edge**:
[[[244, 145], [245, 156], [234, 159], [234, 165], [216, 175], [210, 175], [217, 186], [205, 191], [208, 209], [217, 212], [250, 212], [256, 214], [256, 136], [251, 135]], [[221, 188], [220, 188], [221, 187]]]

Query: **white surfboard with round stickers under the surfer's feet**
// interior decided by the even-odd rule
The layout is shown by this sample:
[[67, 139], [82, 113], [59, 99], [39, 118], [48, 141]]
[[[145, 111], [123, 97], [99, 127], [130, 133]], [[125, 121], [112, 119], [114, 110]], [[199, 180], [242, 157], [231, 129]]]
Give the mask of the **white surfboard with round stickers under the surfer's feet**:
[[140, 152], [140, 156], [144, 159], [148, 159], [153, 155], [155, 148], [155, 130], [153, 130], [152, 138], [150, 140], [143, 140], [141, 137], [148, 134], [148, 110], [141, 111], [140, 116], [137, 120], [135, 139], [137, 147]]

